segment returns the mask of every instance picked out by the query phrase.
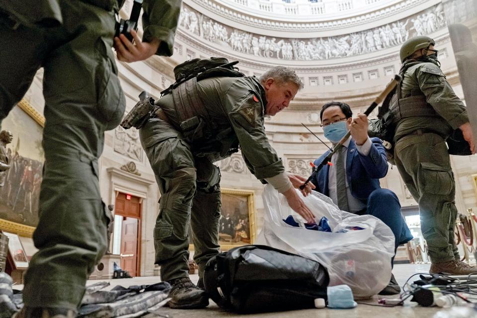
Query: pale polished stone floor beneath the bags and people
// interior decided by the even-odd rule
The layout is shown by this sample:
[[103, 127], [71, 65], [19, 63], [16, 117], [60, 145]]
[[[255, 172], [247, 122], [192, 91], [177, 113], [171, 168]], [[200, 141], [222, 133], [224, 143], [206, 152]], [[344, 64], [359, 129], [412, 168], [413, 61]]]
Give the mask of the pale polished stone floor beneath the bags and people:
[[[393, 270], [397, 282], [399, 285], [403, 285], [404, 282], [409, 278], [410, 275], [415, 273], [428, 273], [429, 264], [397, 264]], [[197, 275], [192, 275], [191, 279], [197, 281]], [[96, 281], [90, 281], [89, 283], [94, 283]], [[159, 277], [137, 277], [133, 279], [114, 279], [110, 280], [112, 286], [122, 285], [139, 285], [139, 284], [152, 284], [159, 282]], [[388, 298], [395, 298], [389, 297]], [[360, 301], [368, 304], [377, 304], [377, 296], [373, 299]], [[300, 310], [300, 311], [290, 311], [290, 312], [281, 312], [281, 313], [267, 313], [267, 314], [257, 314], [257, 315], [246, 315], [247, 318], [261, 317], [261, 318], [380, 318], [380, 317], [402, 317], [402, 318], [432, 318], [438, 312], [440, 312], [436, 317], [449, 317], [448, 310], [443, 310], [440, 308], [424, 308], [424, 307], [393, 307], [393, 308], [383, 308], [383, 307], [374, 307], [369, 305], [358, 304], [354, 309], [347, 310], [338, 310], [338, 309], [310, 309], [310, 310]], [[159, 318], [159, 317], [168, 317], [168, 318], [215, 318], [215, 317], [239, 317], [241, 315], [229, 313], [221, 310], [215, 303], [211, 301], [211, 304], [207, 309], [203, 310], [173, 310], [169, 308], [163, 308], [161, 310], [161, 315], [150, 314], [147, 318]], [[443, 315], [443, 316], [442, 316]], [[473, 316], [471, 316], [473, 317]], [[477, 318], [477, 315], [475, 316]]]

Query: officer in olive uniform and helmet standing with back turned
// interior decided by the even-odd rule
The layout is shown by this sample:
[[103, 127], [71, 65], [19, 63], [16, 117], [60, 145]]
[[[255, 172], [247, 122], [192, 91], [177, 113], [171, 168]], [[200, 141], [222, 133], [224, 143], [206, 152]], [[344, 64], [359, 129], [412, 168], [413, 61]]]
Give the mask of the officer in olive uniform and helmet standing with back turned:
[[396, 125], [395, 160], [419, 204], [422, 235], [432, 260], [430, 272], [468, 274], [477, 267], [459, 260], [454, 242], [455, 181], [445, 141], [461, 128], [472, 147], [472, 132], [466, 107], [439, 67], [434, 44], [431, 38], [418, 36], [401, 47], [402, 81], [390, 102]]

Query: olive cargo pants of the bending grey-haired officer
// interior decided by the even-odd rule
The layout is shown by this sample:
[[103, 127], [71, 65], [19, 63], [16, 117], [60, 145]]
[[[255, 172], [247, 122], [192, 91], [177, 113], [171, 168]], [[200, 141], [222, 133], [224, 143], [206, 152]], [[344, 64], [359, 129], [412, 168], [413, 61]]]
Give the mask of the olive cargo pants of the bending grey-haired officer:
[[[180, 133], [160, 119], [150, 120], [140, 136], [161, 194], [154, 229], [161, 279], [188, 277], [189, 227], [194, 261], [203, 277], [205, 264], [219, 253], [219, 168], [208, 159], [194, 157]], [[147, 141], [151, 138], [152, 144]]]

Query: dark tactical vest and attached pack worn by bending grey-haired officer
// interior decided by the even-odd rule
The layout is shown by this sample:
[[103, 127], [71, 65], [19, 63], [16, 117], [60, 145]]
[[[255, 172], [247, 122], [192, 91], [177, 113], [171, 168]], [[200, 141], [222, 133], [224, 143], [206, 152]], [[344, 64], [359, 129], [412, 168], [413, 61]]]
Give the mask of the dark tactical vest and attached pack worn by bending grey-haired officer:
[[[232, 127], [211, 120], [199, 95], [197, 82], [213, 77], [245, 77], [235, 67], [239, 62], [225, 58], [194, 59], [174, 68], [176, 82], [161, 92], [171, 93], [178, 123], [170, 123], [183, 133], [192, 153], [218, 161], [238, 152], [239, 144]], [[221, 127], [221, 124], [226, 124]]]

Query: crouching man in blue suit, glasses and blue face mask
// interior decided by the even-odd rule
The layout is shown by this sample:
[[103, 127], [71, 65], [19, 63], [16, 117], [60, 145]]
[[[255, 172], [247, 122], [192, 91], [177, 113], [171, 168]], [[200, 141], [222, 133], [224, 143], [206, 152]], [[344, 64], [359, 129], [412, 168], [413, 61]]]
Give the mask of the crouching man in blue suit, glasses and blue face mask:
[[[324, 104], [320, 112], [324, 136], [335, 144], [346, 135], [348, 138], [341, 151], [331, 158], [313, 180], [316, 191], [328, 196], [342, 211], [357, 215], [369, 214], [382, 220], [395, 235], [395, 254], [399, 244], [412, 239], [396, 194], [381, 189], [379, 179], [388, 173], [385, 148], [379, 138], [368, 137], [368, 118], [358, 114], [352, 118], [351, 108], [341, 102]], [[315, 160], [318, 165], [329, 151]], [[394, 257], [391, 260], [394, 261]], [[400, 292], [394, 275], [380, 295]]]

